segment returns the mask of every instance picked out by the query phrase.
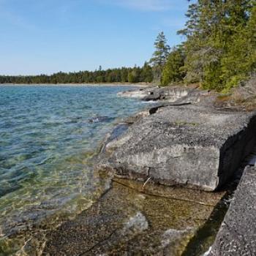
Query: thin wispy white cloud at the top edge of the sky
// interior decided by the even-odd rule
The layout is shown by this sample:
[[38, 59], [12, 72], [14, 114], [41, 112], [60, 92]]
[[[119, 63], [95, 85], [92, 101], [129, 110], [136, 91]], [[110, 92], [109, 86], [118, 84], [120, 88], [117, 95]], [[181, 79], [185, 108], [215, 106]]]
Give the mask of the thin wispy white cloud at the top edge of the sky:
[[172, 7], [170, 0], [112, 0], [110, 2], [111, 4], [119, 5], [121, 7], [129, 7], [135, 10], [150, 12], [162, 12], [170, 10]]

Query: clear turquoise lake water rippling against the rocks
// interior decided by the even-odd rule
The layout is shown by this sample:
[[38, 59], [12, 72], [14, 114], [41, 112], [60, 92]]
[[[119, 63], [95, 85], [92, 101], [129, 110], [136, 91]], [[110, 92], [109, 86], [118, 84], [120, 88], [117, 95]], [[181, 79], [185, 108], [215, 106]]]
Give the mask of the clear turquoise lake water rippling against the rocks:
[[0, 86], [1, 240], [81, 211], [104, 191], [89, 159], [116, 121], [145, 107], [116, 96], [127, 89]]

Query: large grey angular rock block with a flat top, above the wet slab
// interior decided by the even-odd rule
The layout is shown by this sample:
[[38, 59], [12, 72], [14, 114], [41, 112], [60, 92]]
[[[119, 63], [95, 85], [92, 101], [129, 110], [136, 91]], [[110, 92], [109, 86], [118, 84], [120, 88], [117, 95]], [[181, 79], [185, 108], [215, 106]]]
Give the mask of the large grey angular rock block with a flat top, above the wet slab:
[[200, 105], [160, 108], [108, 141], [98, 167], [159, 184], [213, 191], [255, 145], [254, 113]]

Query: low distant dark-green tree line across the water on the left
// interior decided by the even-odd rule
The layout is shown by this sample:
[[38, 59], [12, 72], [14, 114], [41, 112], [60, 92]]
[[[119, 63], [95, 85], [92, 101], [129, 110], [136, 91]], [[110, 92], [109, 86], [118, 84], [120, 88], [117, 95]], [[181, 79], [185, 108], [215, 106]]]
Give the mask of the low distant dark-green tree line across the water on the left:
[[53, 75], [1, 75], [0, 83], [151, 83], [152, 67], [146, 62], [143, 67], [121, 67], [95, 71], [58, 72]]

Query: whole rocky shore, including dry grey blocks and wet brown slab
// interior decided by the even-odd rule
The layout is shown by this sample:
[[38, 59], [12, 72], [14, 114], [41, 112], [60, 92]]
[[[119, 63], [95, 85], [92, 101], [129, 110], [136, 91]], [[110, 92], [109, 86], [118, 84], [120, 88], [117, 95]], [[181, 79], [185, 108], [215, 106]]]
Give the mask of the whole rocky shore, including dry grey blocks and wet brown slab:
[[47, 230], [42, 255], [254, 255], [256, 180], [246, 165], [255, 164], [255, 113], [217, 105], [217, 94], [192, 88], [119, 96], [157, 103], [105, 138], [94, 162], [110, 188]]

